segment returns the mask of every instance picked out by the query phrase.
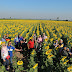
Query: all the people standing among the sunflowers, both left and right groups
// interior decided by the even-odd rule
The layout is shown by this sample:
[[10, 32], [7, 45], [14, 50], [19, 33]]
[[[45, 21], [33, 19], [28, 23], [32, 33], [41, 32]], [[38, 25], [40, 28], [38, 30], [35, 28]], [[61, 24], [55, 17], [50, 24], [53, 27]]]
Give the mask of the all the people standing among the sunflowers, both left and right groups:
[[[1, 48], [1, 57], [3, 59], [3, 64], [6, 66], [6, 69], [9, 70], [9, 60], [10, 60], [10, 68], [12, 68], [12, 57], [13, 57], [13, 50], [20, 51], [24, 56], [30, 56], [30, 53], [33, 49], [41, 50], [42, 42], [47, 39], [45, 33], [43, 35], [39, 35], [37, 38], [36, 34], [34, 33], [33, 38], [30, 39], [28, 42], [25, 38], [23, 38], [20, 34], [15, 36], [14, 43], [15, 46], [12, 45], [11, 37], [9, 34], [6, 36], [4, 35], [2, 38], [2, 48]], [[7, 43], [8, 41], [8, 43]], [[70, 57], [72, 55], [72, 48], [71, 50], [64, 45], [63, 40], [60, 39], [59, 43], [58, 40], [55, 41], [53, 44], [55, 48], [59, 47], [59, 54], [62, 56]]]

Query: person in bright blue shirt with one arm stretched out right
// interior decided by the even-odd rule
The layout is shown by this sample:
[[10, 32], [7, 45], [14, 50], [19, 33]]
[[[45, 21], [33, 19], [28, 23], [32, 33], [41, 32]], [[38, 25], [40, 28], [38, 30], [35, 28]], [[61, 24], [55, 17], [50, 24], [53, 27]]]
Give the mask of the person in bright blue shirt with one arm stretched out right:
[[13, 47], [11, 45], [11, 41], [8, 42], [8, 45], [7, 45], [7, 49], [8, 49], [8, 52], [9, 52], [9, 55], [10, 55], [10, 67], [12, 68], [12, 57], [13, 57], [13, 50], [16, 50], [16, 51], [21, 51], [21, 49], [16, 49], [15, 47]]

